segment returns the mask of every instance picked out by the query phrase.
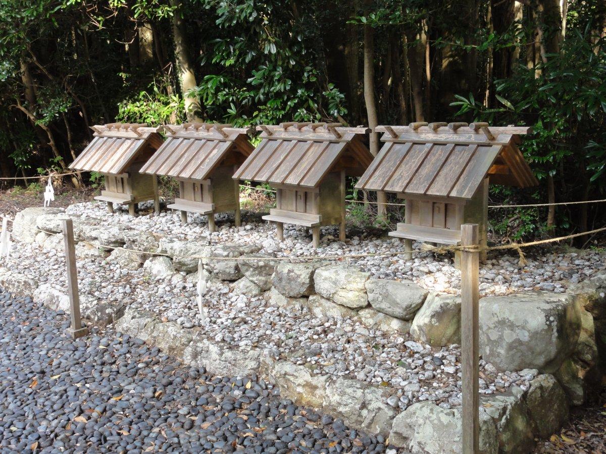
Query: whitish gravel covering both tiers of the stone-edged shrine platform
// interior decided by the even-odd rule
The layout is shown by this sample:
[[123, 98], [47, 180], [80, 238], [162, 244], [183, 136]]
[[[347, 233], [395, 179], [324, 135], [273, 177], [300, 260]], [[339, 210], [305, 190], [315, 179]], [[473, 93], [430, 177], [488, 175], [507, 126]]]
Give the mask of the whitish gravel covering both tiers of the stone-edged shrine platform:
[[[141, 229], [173, 239], [208, 242], [204, 217], [195, 216], [193, 225], [182, 226], [178, 215], [142, 215], [133, 219], [118, 211], [109, 215], [105, 205], [85, 203], [72, 205], [68, 214], [98, 218], [108, 226]], [[219, 218], [219, 217], [218, 217]], [[244, 216], [247, 221], [250, 217]], [[258, 219], [258, 218], [257, 218]], [[191, 217], [190, 217], [191, 221]], [[323, 229], [322, 246], [313, 251], [301, 228], [285, 226], [285, 241], [275, 242], [274, 228], [261, 222], [248, 222], [233, 228], [231, 218], [218, 219], [219, 231], [210, 235], [211, 244], [262, 243], [264, 251], [276, 255], [309, 255], [317, 253], [359, 254], [401, 250], [398, 241], [351, 237], [347, 242], [333, 242], [334, 229]], [[525, 289], [564, 291], [569, 281], [579, 281], [604, 268], [604, 255], [596, 251], [547, 252], [528, 257], [528, 266], [519, 269], [517, 258], [491, 258], [481, 268], [482, 294], [507, 294]], [[372, 257], [353, 260], [380, 278], [413, 280], [427, 289], [456, 292], [459, 271], [447, 257], [436, 259], [422, 253], [414, 260], [398, 257]], [[7, 268], [49, 281], [64, 288], [65, 263], [61, 252], [42, 251], [41, 246], [19, 243]], [[164, 321], [176, 321], [184, 327], [201, 326], [196, 306], [195, 275], [176, 273], [161, 280], [144, 274], [143, 269], [130, 271], [106, 263], [100, 257], [78, 261], [79, 285], [82, 293], [102, 300], [134, 304], [159, 314]], [[395, 389], [391, 404], [401, 408], [415, 401], [433, 400], [443, 407], [457, 406], [461, 401], [461, 370], [459, 346], [431, 349], [411, 340], [408, 335], [370, 329], [358, 318], [317, 318], [307, 308], [276, 308], [264, 297], [248, 298], [231, 294], [230, 286], [219, 284], [208, 289], [205, 297], [207, 318], [204, 323], [209, 338], [233, 346], [254, 346], [265, 349], [276, 358], [288, 358], [306, 364], [315, 373], [355, 377], [358, 380]], [[527, 387], [536, 370], [523, 373], [498, 373], [491, 364], [481, 363], [481, 392], [500, 392], [512, 384]]]

